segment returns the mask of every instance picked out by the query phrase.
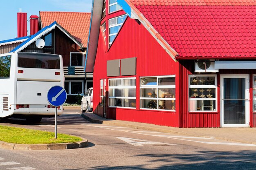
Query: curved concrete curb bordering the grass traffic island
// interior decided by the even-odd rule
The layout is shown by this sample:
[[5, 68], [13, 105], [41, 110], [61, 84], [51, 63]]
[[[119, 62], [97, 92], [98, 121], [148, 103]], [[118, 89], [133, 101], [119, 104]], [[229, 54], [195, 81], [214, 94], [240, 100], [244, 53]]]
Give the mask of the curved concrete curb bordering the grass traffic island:
[[0, 148], [9, 150], [63, 150], [63, 149], [77, 149], [85, 148], [88, 146], [88, 140], [83, 139], [76, 143], [65, 143], [65, 144], [10, 144], [7, 142], [0, 141]]

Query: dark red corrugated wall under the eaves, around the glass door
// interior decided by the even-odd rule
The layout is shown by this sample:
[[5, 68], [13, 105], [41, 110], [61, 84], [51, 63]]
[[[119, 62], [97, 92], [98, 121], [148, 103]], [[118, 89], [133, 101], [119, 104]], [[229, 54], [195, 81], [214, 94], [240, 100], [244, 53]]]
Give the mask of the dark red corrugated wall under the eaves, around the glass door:
[[[204, 127], [220, 127], [220, 75], [229, 74], [247, 74], [250, 75], [250, 126], [255, 127], [256, 114], [252, 111], [252, 85], [254, 82], [253, 75], [256, 74], [255, 70], [229, 70], [220, 69], [217, 74], [217, 113], [191, 113], [188, 108], [189, 99], [189, 77], [193, 73], [193, 60], [180, 61], [180, 83], [181, 87], [181, 122], [183, 128], [204, 128]], [[209, 74], [209, 73], [208, 73]], [[202, 75], [202, 74], [200, 74]]]

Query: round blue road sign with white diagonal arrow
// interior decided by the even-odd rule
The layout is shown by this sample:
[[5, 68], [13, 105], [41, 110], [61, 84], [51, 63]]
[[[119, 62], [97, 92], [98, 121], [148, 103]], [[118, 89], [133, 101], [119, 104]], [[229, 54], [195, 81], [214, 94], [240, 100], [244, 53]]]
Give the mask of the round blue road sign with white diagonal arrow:
[[67, 92], [61, 86], [53, 86], [47, 92], [47, 100], [52, 106], [61, 106], [66, 102], [66, 99]]

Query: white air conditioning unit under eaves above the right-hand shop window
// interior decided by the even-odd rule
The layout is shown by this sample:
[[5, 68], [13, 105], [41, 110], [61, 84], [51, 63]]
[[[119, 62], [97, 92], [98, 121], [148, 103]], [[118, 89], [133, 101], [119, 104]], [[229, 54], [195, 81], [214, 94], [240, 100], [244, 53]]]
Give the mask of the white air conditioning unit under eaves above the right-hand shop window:
[[214, 63], [214, 60], [195, 60], [195, 73], [219, 72], [219, 69], [214, 68]]

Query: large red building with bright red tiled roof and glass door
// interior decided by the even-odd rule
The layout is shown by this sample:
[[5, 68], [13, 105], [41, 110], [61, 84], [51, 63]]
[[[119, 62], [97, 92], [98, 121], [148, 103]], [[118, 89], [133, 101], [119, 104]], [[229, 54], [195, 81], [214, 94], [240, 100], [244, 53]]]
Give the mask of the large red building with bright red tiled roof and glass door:
[[256, 2], [94, 0], [94, 113], [180, 128], [256, 126]]

